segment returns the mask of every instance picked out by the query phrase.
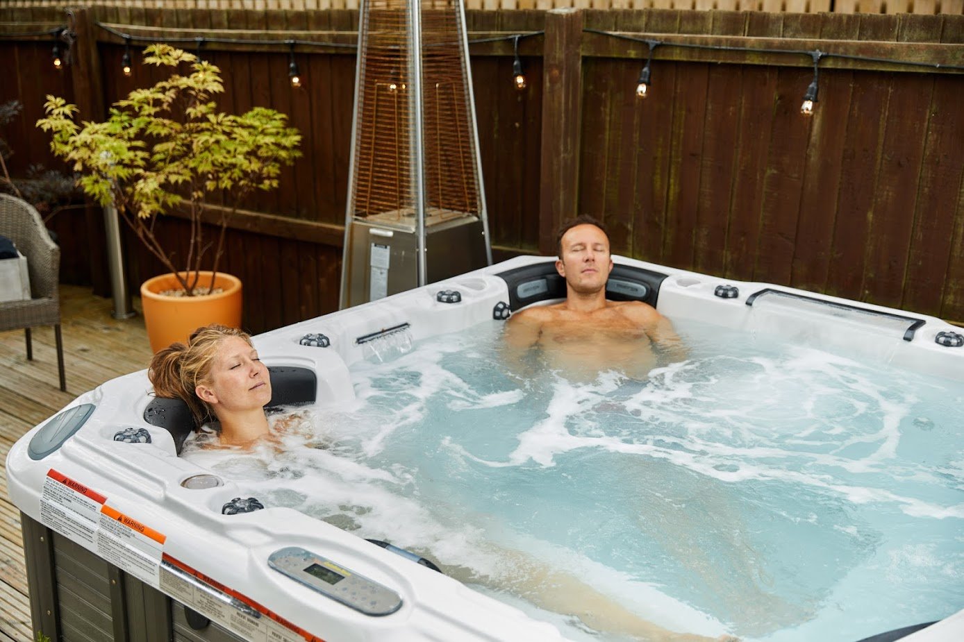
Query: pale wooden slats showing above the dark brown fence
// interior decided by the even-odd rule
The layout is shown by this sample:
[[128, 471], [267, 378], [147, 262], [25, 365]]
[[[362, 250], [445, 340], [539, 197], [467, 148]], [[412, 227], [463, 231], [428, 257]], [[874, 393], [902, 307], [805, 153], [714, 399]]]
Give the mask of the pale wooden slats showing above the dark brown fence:
[[[355, 9], [359, 0], [6, 0], [11, 7], [101, 5], [149, 9]], [[789, 13], [964, 13], [964, 0], [466, 0], [467, 9], [678, 9]]]

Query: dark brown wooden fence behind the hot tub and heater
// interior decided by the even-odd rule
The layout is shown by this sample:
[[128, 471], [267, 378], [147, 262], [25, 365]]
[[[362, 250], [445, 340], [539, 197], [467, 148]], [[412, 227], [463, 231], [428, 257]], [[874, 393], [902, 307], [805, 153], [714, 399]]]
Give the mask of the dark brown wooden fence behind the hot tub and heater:
[[[331, 311], [350, 148], [352, 49], [299, 45], [305, 86], [292, 90], [286, 47], [353, 42], [351, 11], [172, 11], [96, 7], [74, 13], [75, 56], [50, 67], [49, 38], [0, 39], [16, 82], [0, 102], [25, 110], [7, 138], [14, 168], [54, 164], [33, 127], [44, 94], [85, 117], [153, 78], [120, 73], [123, 40], [249, 39], [204, 44], [222, 67], [224, 106], [268, 105], [305, 135], [281, 189], [230, 217], [224, 266], [245, 281], [254, 332]], [[520, 43], [529, 83], [512, 83], [512, 41], [470, 46], [495, 256], [551, 253], [557, 223], [595, 214], [614, 251], [747, 281], [769, 281], [964, 321], [964, 17], [736, 12], [469, 12], [469, 39], [545, 32]], [[7, 33], [63, 23], [49, 9], [0, 10]], [[13, 25], [13, 26], [11, 26]], [[607, 32], [609, 35], [599, 33]], [[650, 95], [635, 96], [658, 40]], [[673, 46], [710, 45], [707, 48]], [[744, 48], [755, 51], [747, 52]], [[902, 62], [821, 59], [819, 101], [800, 113], [820, 50]], [[64, 212], [65, 281], [106, 294], [100, 214]], [[183, 234], [165, 221], [171, 243]], [[131, 281], [161, 271], [127, 239]]]

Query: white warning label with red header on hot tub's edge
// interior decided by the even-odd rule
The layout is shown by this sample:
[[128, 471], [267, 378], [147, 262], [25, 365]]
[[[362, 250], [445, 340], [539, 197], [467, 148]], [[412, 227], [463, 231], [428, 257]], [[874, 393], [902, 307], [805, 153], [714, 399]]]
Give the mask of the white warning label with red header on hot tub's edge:
[[50, 468], [40, 493], [40, 522], [96, 552], [94, 534], [107, 497]]

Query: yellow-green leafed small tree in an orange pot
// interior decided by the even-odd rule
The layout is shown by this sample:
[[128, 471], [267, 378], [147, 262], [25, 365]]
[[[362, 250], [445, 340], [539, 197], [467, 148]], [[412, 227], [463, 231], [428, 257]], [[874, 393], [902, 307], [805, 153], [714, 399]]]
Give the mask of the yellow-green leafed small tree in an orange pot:
[[[141, 287], [147, 335], [156, 352], [205, 323], [240, 325], [241, 283], [218, 272], [225, 210], [212, 242], [204, 235], [205, 209], [218, 195], [236, 208], [255, 189], [277, 187], [281, 165], [301, 155], [301, 136], [273, 109], [255, 107], [241, 116], [218, 111], [214, 96], [224, 92], [220, 69], [194, 54], [167, 44], [152, 44], [144, 53], [145, 64], [171, 67], [171, 75], [115, 103], [107, 120], [77, 124], [77, 107], [48, 95], [46, 118], [37, 125], [52, 134], [51, 149], [72, 164], [81, 189], [104, 207], [116, 207], [170, 271]], [[182, 65], [190, 73], [178, 73]], [[158, 216], [172, 208], [182, 208], [190, 221], [188, 250], [181, 257], [163, 247], [154, 228]]]

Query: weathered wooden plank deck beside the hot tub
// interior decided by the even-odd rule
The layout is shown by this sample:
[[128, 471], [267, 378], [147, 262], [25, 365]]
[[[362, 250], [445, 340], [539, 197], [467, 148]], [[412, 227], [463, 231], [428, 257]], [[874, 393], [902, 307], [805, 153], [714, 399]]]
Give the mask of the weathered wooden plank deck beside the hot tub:
[[[122, 374], [147, 367], [150, 348], [144, 319], [117, 320], [113, 302], [91, 290], [61, 286], [61, 315], [67, 392], [57, 379], [52, 328], [33, 332], [34, 360], [27, 361], [23, 331], [0, 333], [0, 465], [6, 468], [13, 442], [78, 394]], [[140, 302], [134, 302], [140, 309]], [[20, 536], [20, 512], [0, 475], [0, 642], [34, 639], [27, 574]]]

